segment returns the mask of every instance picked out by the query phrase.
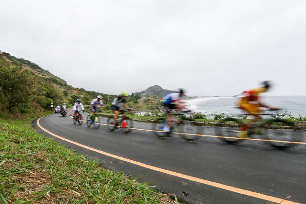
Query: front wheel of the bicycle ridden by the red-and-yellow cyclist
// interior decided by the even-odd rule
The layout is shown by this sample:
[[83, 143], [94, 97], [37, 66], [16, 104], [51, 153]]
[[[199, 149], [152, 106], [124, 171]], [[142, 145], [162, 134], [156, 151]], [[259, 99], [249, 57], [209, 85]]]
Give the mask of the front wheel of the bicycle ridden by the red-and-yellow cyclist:
[[296, 130], [276, 129], [277, 126], [283, 127], [288, 125], [286, 120], [271, 119], [262, 123], [260, 127], [268, 128], [268, 130], [261, 131], [268, 144], [276, 148], [284, 149], [295, 144], [294, 142], [296, 142], [296, 138], [300, 132]]

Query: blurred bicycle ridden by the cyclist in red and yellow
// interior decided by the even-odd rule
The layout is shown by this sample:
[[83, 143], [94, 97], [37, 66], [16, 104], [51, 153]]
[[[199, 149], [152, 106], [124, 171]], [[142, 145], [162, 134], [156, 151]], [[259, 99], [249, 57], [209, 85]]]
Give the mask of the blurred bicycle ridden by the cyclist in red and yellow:
[[[277, 109], [279, 110], [279, 109]], [[275, 110], [270, 110], [275, 111]], [[242, 114], [242, 115], [249, 115], [249, 114]], [[273, 115], [273, 114], [265, 114], [261, 113], [260, 115]], [[272, 126], [288, 126], [289, 122], [284, 119], [266, 119], [266, 120], [259, 120], [256, 123], [252, 124], [251, 127], [246, 130], [248, 134], [248, 138], [241, 138], [239, 137], [239, 128], [245, 125], [245, 121], [236, 119], [236, 118], [226, 118], [221, 121], [223, 125], [230, 125], [236, 128], [216, 128], [215, 133], [217, 136], [230, 144], [238, 143], [244, 140], [247, 140], [255, 135], [259, 135], [261, 137], [260, 140], [270, 144], [276, 148], [288, 148], [295, 144], [295, 139], [292, 136], [295, 135], [297, 131], [284, 131], [281, 129], [271, 129]], [[265, 129], [265, 130], [263, 130]], [[290, 134], [291, 133], [291, 134]], [[256, 140], [256, 139], [254, 139]]]

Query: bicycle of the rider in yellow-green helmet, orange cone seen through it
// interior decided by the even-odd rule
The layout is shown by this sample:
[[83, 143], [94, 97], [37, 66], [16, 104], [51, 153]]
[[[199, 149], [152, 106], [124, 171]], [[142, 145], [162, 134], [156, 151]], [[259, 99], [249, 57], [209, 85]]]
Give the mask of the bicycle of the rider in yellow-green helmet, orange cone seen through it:
[[114, 119], [113, 117], [109, 117], [107, 119], [107, 127], [109, 131], [113, 131], [116, 128], [122, 128], [124, 133], [131, 132], [132, 128], [134, 127], [134, 122], [132, 119], [125, 115], [126, 110], [120, 110], [120, 114], [122, 114], [121, 118], [117, 119], [117, 126], [113, 125]]

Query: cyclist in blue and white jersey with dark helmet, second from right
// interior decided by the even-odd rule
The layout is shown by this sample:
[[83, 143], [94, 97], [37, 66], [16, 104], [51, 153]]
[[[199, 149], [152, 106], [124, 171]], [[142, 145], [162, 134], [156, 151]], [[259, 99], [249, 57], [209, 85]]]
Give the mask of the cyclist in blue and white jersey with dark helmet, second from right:
[[184, 90], [179, 89], [179, 92], [170, 93], [163, 98], [163, 111], [168, 115], [167, 123], [163, 128], [163, 131], [166, 133], [170, 132], [171, 121], [174, 118], [174, 115], [170, 114], [172, 110], [174, 109], [182, 110], [186, 108], [184, 105], [182, 105], [184, 102], [181, 101], [183, 95], [184, 95]]

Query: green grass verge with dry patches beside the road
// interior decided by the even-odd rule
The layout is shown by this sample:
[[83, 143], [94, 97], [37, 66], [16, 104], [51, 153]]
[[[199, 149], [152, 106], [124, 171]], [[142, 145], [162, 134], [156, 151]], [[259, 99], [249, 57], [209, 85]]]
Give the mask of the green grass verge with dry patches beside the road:
[[153, 187], [105, 170], [97, 160], [37, 133], [31, 127], [36, 116], [0, 116], [0, 202], [174, 203]]

